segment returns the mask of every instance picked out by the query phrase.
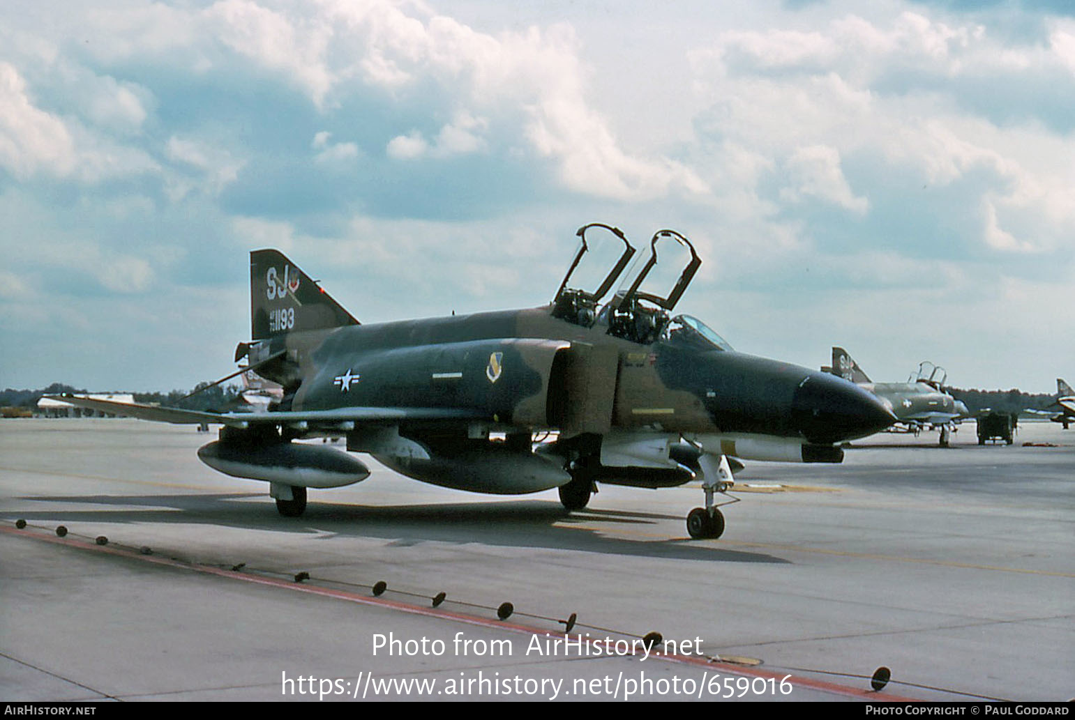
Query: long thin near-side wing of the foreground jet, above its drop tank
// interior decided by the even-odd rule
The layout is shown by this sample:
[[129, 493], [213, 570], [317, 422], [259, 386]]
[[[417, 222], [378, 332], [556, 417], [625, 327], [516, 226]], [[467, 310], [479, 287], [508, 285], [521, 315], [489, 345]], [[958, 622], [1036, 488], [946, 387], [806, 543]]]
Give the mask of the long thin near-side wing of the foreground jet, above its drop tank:
[[334, 422], [402, 422], [405, 420], [484, 420], [477, 409], [457, 407], [341, 407], [332, 411], [298, 411], [286, 413], [205, 413], [180, 407], [161, 407], [142, 403], [117, 403], [75, 395], [46, 395], [52, 400], [88, 407], [102, 413], [123, 415], [142, 420], [177, 424], [216, 423], [233, 428], [252, 424], [334, 423]]

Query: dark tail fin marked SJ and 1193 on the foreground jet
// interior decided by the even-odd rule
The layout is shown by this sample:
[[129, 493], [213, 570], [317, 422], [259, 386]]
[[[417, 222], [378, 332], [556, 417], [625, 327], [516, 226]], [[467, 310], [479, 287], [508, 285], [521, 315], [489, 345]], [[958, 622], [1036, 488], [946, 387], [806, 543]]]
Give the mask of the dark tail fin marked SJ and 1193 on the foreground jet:
[[250, 253], [250, 337], [328, 330], [358, 320], [280, 250]]

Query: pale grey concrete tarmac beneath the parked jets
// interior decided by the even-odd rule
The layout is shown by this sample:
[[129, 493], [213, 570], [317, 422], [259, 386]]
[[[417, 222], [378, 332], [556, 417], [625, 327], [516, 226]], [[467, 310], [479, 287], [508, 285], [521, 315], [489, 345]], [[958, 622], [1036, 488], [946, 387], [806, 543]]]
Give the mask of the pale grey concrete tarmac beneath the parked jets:
[[1075, 430], [1056, 423], [746, 462], [707, 541], [684, 524], [698, 484], [602, 486], [568, 513], [367, 457], [367, 480], [283, 518], [263, 483], [198, 461], [211, 440], [0, 420], [0, 700], [1075, 696]]

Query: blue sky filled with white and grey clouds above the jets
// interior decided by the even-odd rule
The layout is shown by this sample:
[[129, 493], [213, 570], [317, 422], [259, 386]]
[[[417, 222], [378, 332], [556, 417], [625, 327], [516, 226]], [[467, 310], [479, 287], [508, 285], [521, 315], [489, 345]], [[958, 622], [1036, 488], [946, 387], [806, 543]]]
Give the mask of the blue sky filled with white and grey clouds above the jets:
[[586, 222], [876, 380], [1075, 379], [1063, 0], [5, 0], [0, 387], [229, 373], [247, 251], [363, 322], [547, 302]]

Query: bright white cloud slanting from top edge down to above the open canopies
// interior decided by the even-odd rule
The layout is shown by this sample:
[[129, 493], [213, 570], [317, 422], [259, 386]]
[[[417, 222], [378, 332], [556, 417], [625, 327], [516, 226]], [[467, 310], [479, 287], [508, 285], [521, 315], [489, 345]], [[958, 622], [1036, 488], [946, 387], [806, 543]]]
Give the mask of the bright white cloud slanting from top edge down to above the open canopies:
[[[433, 140], [417, 130], [392, 138], [389, 157], [478, 152], [487, 141], [477, 130], [494, 130], [553, 159], [576, 192], [643, 200], [706, 191], [689, 168], [636, 157], [618, 144], [586, 101], [586, 70], [568, 26], [493, 37], [427, 9], [375, 0], [275, 10], [223, 0], [199, 19], [231, 51], [303, 88], [322, 111], [356, 81], [397, 93], [430, 82], [449, 90], [459, 105], [455, 119]], [[461, 121], [478, 117], [477, 126]]]

